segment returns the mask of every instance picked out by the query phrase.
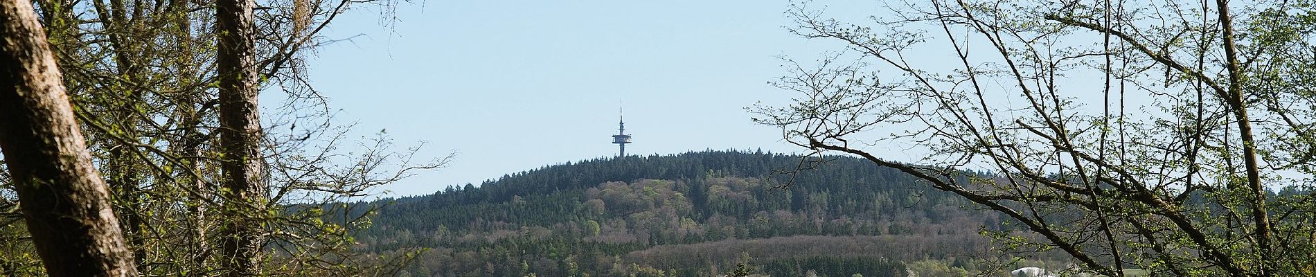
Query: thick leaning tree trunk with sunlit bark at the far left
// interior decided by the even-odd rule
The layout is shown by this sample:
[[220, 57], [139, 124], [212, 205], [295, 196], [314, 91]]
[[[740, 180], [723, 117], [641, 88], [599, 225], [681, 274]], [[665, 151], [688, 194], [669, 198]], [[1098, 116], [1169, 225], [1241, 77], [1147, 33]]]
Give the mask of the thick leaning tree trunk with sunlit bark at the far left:
[[0, 150], [50, 276], [137, 276], [30, 1], [0, 0]]

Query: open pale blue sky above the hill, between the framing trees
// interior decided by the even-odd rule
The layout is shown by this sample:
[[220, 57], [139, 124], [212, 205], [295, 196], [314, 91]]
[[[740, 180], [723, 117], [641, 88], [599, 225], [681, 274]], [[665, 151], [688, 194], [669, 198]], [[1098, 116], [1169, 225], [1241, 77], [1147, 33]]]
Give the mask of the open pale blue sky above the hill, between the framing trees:
[[[828, 4], [836, 5], [836, 4]], [[829, 11], [871, 14], [875, 1]], [[355, 9], [316, 50], [313, 85], [358, 122], [387, 129], [399, 148], [455, 152], [446, 168], [391, 188], [426, 194], [504, 173], [615, 156], [617, 102], [633, 155], [699, 150], [796, 152], [779, 130], [750, 122], [745, 106], [783, 104], [767, 81], [778, 56], [838, 50], [783, 26], [788, 3], [771, 1], [417, 1], [400, 4], [393, 29]]]

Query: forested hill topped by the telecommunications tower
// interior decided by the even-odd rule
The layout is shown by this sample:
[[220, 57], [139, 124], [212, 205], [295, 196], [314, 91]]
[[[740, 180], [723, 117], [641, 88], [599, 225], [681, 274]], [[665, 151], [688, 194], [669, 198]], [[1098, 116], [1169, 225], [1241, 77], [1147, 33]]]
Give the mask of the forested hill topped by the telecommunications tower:
[[359, 249], [430, 248], [405, 276], [712, 276], [737, 264], [771, 276], [954, 274], [986, 251], [982, 227], [1001, 228], [900, 172], [825, 160], [797, 175], [774, 173], [797, 156], [738, 151], [549, 165], [390, 200]]

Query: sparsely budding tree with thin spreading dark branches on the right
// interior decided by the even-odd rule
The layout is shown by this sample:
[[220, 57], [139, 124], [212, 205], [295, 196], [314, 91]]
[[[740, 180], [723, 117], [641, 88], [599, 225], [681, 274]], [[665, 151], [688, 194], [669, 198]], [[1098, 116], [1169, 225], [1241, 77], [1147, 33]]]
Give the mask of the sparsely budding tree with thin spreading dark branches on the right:
[[1312, 4], [932, 0], [873, 24], [797, 4], [796, 34], [846, 50], [788, 63], [795, 101], [753, 110], [1008, 215], [1032, 232], [994, 234], [1016, 251], [1105, 276], [1305, 276]]

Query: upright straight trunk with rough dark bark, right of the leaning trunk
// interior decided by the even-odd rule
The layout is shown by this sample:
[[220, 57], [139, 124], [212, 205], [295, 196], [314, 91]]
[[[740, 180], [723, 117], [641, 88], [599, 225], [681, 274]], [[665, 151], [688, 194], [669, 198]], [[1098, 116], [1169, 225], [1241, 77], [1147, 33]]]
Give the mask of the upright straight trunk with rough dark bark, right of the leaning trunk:
[[220, 77], [221, 181], [226, 207], [222, 236], [228, 276], [253, 276], [261, 251], [258, 222], [265, 205], [261, 159], [261, 110], [255, 68], [255, 24], [253, 0], [218, 0], [217, 71]]

